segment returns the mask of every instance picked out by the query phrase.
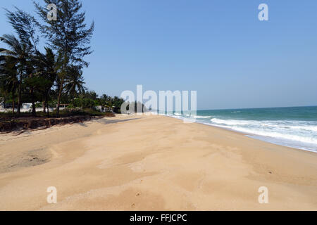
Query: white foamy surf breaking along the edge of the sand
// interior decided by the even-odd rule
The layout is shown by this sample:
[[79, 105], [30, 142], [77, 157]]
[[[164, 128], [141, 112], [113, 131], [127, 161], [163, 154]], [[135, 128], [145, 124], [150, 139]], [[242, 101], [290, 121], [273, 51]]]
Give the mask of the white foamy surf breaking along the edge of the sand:
[[293, 148], [301, 148], [317, 152], [317, 122], [299, 120], [231, 120], [216, 118], [212, 115], [182, 115], [172, 116], [181, 120], [190, 120], [203, 124], [240, 131], [254, 138], [281, 144]]

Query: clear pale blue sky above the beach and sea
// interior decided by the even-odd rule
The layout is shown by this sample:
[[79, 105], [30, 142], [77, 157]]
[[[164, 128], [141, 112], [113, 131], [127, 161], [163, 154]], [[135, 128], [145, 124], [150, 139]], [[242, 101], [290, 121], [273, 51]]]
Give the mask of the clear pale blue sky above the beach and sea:
[[[40, 1], [40, 0], [39, 0]], [[258, 6], [268, 4], [268, 21]], [[96, 24], [86, 86], [197, 91], [199, 109], [317, 105], [316, 0], [83, 0]], [[2, 8], [34, 13], [31, 0]], [[0, 44], [0, 46], [4, 46]]]

